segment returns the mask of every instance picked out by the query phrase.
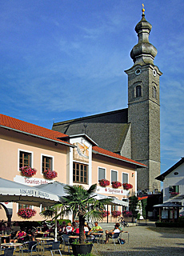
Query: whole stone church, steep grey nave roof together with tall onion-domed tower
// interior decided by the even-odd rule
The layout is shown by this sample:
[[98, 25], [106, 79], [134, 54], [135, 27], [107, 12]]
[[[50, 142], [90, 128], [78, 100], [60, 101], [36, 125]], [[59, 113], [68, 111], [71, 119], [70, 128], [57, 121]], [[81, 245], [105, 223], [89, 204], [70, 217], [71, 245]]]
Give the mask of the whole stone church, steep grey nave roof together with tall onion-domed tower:
[[149, 42], [152, 26], [142, 19], [135, 26], [138, 43], [130, 52], [134, 65], [128, 75], [128, 108], [56, 122], [53, 130], [72, 136], [86, 134], [105, 150], [110, 150], [147, 168], [138, 169], [138, 190], [155, 192], [160, 184], [160, 97], [162, 72], [154, 65], [157, 49]]

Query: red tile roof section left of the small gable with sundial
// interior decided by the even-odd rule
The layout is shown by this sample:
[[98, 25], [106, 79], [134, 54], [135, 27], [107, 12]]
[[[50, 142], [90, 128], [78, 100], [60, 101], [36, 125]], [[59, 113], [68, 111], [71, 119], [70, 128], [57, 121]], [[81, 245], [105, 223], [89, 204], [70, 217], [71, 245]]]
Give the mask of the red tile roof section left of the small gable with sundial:
[[57, 142], [63, 142], [67, 145], [71, 145], [69, 142], [64, 142], [59, 138], [67, 137], [66, 134], [62, 134], [55, 130], [46, 129], [42, 126], [36, 126], [30, 122], [24, 122], [22, 120], [11, 118], [4, 114], [0, 114], [0, 126], [6, 126], [20, 132], [25, 132], [28, 134], [33, 134], [42, 138], [49, 138]]

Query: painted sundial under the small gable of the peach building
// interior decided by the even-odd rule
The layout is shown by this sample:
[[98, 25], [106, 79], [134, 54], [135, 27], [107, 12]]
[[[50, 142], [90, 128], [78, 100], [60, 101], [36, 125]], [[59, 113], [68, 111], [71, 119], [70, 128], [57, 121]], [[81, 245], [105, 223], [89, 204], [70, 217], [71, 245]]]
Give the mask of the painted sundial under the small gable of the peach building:
[[89, 146], [84, 142], [76, 142], [74, 145], [74, 160], [89, 162]]

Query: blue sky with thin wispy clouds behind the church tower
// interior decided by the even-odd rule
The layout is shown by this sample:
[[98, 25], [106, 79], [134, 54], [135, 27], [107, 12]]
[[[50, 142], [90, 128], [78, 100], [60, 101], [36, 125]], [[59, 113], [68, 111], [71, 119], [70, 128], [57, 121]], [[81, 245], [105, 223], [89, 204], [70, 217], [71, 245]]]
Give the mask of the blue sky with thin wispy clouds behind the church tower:
[[[161, 170], [184, 156], [184, 1], [143, 1], [162, 71]], [[0, 113], [52, 123], [127, 107], [139, 0], [0, 0]]]

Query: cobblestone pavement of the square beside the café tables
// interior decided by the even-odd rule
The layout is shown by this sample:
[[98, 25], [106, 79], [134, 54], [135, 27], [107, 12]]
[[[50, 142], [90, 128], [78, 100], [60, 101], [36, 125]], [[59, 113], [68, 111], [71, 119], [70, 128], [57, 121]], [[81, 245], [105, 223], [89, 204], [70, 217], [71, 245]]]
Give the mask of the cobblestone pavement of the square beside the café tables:
[[[103, 230], [110, 230], [113, 224], [100, 223]], [[156, 228], [154, 223], [147, 223], [146, 226], [130, 226], [124, 229], [130, 233], [130, 242], [127, 241], [127, 234], [122, 234], [122, 238], [126, 239], [123, 245], [114, 245], [113, 240], [107, 244], [97, 244], [94, 246], [98, 250], [92, 250], [94, 255], [106, 256], [158, 256], [158, 255], [184, 255], [184, 228], [182, 229], [164, 229]], [[105, 238], [104, 238], [105, 239]], [[63, 247], [62, 247], [63, 249]], [[62, 250], [62, 255], [69, 256], [67, 246]], [[26, 256], [26, 254], [24, 254]], [[46, 252], [44, 256], [49, 256], [50, 252]]]

